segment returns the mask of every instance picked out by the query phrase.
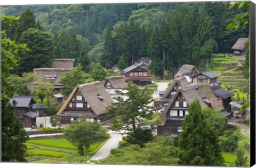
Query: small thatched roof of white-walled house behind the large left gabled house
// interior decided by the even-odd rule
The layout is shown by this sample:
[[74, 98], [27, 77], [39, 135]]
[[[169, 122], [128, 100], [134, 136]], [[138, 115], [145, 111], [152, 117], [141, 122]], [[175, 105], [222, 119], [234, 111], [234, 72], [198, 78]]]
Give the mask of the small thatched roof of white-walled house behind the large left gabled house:
[[106, 77], [103, 85], [105, 86], [107, 82], [110, 83], [112, 88], [118, 89], [119, 87], [121, 87], [121, 88], [126, 88], [127, 87], [127, 83], [125, 82], [123, 76], [109, 76], [109, 77]]

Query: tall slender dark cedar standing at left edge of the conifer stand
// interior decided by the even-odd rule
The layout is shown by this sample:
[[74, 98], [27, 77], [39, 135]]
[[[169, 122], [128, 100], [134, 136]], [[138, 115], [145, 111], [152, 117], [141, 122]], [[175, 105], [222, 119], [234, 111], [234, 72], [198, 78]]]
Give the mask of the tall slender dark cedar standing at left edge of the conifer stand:
[[113, 38], [110, 25], [107, 25], [104, 34], [103, 50], [101, 53], [101, 65], [107, 69], [114, 65]]

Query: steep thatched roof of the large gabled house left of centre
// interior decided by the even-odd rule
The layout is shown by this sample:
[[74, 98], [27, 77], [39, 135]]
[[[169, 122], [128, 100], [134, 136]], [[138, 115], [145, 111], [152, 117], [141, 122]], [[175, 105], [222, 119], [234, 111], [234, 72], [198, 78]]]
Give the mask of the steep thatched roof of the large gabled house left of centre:
[[[91, 83], [85, 83], [77, 85], [74, 88], [74, 90], [71, 92], [68, 99], [64, 103], [64, 105], [58, 111], [58, 115], [61, 115], [65, 111], [66, 107], [68, 106], [70, 100], [73, 98], [77, 90], [81, 91], [82, 95], [84, 96], [87, 103], [89, 103], [95, 115], [101, 115], [106, 113], [106, 108], [110, 106], [111, 103], [113, 103], [113, 100], [106, 91], [102, 82], [96, 81]], [[102, 98], [102, 101], [99, 97]]]

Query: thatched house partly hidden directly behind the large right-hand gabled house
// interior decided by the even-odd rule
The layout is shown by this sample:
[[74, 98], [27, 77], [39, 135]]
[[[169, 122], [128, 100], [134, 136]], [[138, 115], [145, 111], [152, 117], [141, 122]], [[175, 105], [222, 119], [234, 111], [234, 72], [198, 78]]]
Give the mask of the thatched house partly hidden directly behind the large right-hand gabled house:
[[155, 99], [154, 107], [156, 107], [157, 109], [161, 109], [166, 103], [169, 103], [169, 101], [179, 89], [189, 86], [190, 84], [185, 77], [180, 76], [175, 78], [172, 84], [166, 89], [164, 95], [160, 98]]

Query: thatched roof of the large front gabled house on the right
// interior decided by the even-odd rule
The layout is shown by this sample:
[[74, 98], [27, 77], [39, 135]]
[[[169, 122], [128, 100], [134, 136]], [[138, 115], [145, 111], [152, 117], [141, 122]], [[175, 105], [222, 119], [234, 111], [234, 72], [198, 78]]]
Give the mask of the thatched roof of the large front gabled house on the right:
[[[162, 116], [166, 116], [166, 113], [170, 110], [172, 104], [176, 100], [179, 94], [182, 94], [183, 98], [190, 106], [190, 104], [196, 99], [199, 101], [202, 108], [208, 107], [207, 103], [210, 103], [212, 108], [223, 110], [223, 107], [220, 105], [218, 99], [212, 93], [210, 87], [206, 84], [196, 84], [190, 87], [183, 87], [179, 89], [175, 95], [172, 97], [168, 105], [165, 107]], [[166, 121], [167, 118], [165, 118]], [[165, 123], [162, 123], [162, 125]]]

